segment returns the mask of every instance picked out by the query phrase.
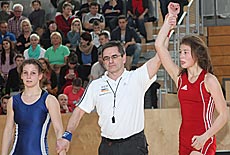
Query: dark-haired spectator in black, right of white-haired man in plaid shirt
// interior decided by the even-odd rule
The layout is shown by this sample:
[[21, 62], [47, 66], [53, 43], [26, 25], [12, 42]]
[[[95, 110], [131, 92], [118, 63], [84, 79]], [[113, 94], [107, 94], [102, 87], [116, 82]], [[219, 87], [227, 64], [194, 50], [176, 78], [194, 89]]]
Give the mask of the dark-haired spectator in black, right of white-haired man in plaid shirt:
[[37, 30], [38, 27], [42, 28], [45, 24], [45, 10], [41, 9], [41, 1], [32, 1], [33, 12], [29, 14], [29, 20], [32, 24], [33, 30]]

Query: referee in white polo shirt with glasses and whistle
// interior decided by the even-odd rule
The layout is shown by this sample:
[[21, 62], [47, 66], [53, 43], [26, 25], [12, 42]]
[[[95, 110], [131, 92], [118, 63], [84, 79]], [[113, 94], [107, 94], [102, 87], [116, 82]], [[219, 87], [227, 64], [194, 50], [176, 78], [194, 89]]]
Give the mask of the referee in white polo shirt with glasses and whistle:
[[65, 133], [57, 141], [57, 152], [68, 149], [82, 116], [96, 107], [102, 137], [99, 155], [147, 155], [144, 95], [156, 80], [160, 59], [156, 55], [135, 71], [127, 71], [124, 48], [117, 41], [103, 45], [102, 58], [106, 72], [85, 90]]

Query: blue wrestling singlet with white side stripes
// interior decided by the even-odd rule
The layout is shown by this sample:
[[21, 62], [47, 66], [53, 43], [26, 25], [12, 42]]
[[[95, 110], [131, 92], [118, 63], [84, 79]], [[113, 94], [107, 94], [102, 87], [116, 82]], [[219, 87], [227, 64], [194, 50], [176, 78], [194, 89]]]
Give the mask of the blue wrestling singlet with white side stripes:
[[22, 93], [13, 96], [15, 140], [10, 152], [12, 155], [48, 155], [47, 133], [50, 115], [45, 101], [48, 93], [31, 105], [21, 99]]

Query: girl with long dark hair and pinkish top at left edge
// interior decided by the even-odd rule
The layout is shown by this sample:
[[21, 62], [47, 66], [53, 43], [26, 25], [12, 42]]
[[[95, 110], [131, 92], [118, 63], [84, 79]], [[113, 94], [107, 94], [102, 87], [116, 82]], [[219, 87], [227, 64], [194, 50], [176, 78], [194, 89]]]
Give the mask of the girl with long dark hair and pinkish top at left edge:
[[13, 49], [13, 44], [9, 39], [3, 39], [2, 52], [0, 59], [0, 73], [5, 80], [7, 80], [8, 72], [16, 67], [14, 57], [16, 53]]

